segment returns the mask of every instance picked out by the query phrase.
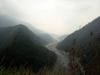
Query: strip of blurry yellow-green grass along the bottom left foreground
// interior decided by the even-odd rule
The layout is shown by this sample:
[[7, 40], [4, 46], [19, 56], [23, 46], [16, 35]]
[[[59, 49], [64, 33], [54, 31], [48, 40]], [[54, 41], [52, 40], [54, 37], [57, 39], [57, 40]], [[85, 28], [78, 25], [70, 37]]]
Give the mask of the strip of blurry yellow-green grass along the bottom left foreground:
[[34, 73], [31, 68], [1, 68], [0, 75], [66, 75], [61, 70], [48, 70], [44, 68], [37, 73]]

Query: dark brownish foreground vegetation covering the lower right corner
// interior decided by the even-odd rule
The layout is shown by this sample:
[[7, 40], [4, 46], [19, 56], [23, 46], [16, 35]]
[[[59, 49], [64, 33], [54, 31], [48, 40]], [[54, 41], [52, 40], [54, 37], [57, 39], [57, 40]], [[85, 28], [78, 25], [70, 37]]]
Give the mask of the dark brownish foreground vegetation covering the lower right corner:
[[70, 75], [100, 75], [100, 38], [91, 38], [85, 47], [69, 50]]

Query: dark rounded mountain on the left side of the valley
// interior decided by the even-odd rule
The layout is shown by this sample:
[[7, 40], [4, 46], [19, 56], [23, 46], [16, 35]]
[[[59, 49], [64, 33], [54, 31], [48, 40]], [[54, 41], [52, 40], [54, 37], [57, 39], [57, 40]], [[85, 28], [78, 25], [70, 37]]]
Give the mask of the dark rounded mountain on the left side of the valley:
[[38, 71], [46, 65], [51, 68], [56, 59], [56, 54], [45, 48], [43, 41], [26, 26], [0, 27], [0, 65], [32, 66]]

